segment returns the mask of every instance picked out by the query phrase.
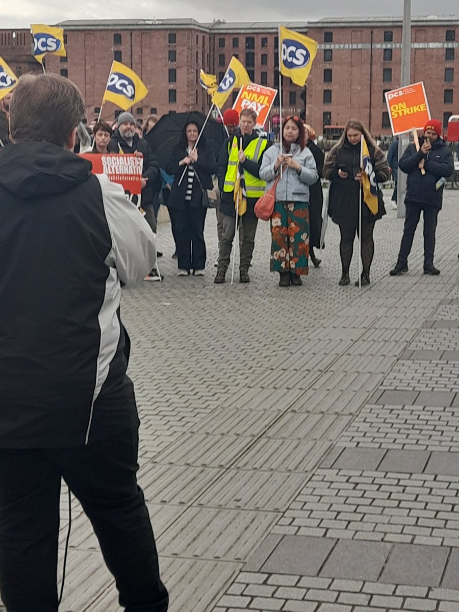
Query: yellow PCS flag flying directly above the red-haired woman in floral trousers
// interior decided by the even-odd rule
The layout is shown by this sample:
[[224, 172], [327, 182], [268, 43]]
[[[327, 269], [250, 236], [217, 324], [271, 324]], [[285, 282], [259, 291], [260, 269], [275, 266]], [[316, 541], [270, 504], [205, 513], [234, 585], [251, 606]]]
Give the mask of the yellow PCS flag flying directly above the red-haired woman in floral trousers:
[[318, 42], [304, 34], [279, 26], [280, 73], [304, 86], [317, 53]]

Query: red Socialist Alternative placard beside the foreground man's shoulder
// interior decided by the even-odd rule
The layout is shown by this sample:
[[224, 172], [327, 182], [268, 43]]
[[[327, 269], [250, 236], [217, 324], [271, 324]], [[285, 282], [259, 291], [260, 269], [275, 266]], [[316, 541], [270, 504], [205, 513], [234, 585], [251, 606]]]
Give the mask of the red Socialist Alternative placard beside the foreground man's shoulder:
[[92, 174], [106, 174], [110, 181], [119, 183], [128, 200], [140, 205], [142, 192], [143, 156], [118, 153], [82, 153], [80, 157], [92, 163]]

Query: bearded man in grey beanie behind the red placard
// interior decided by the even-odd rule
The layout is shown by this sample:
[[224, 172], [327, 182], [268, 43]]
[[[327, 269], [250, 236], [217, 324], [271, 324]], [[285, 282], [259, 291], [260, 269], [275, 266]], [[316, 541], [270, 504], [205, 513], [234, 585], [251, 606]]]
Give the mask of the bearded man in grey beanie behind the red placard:
[[[154, 212], [154, 193], [152, 185], [159, 175], [159, 166], [150, 149], [149, 144], [144, 138], [139, 138], [136, 134], [136, 122], [131, 113], [120, 113], [118, 115], [118, 129], [115, 130], [110, 143], [108, 152], [110, 153], [135, 153], [143, 155], [143, 174], [142, 174], [142, 197], [140, 205], [145, 211], [145, 219], [151, 229], [156, 233], [157, 224]], [[162, 256], [158, 252], [157, 256]], [[157, 270], [152, 270], [144, 280], [161, 280]]]

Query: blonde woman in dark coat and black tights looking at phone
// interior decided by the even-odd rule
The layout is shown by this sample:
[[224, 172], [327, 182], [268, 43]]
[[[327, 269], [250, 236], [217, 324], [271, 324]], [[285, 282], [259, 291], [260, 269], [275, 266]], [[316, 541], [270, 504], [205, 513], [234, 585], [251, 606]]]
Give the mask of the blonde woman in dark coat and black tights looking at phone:
[[[375, 170], [376, 182], [389, 180], [390, 170], [383, 151], [371, 138], [365, 125], [357, 119], [349, 119], [340, 140], [327, 155], [324, 178], [330, 180], [328, 214], [340, 228], [340, 256], [342, 274], [339, 285], [349, 285], [349, 266], [353, 256], [354, 239], [359, 235], [359, 201], [362, 190], [360, 167], [361, 138], [364, 135]], [[378, 212], [373, 215], [365, 205], [362, 195], [362, 285], [370, 285], [370, 267], [375, 253], [373, 230], [376, 220], [386, 214], [379, 198]], [[359, 237], [360, 239], [360, 237]], [[356, 282], [359, 286], [359, 281]]]

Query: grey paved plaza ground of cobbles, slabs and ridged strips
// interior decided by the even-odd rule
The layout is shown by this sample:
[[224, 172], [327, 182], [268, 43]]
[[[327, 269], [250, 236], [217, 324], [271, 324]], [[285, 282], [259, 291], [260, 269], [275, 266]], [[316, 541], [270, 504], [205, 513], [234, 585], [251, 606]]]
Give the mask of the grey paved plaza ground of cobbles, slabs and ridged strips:
[[[176, 276], [160, 226], [165, 281], [124, 291], [122, 313], [172, 612], [459, 610], [458, 204], [447, 192], [441, 276], [422, 274], [419, 232], [389, 277], [391, 210], [361, 291], [338, 287], [332, 223], [323, 264], [288, 289], [267, 223], [234, 286], [213, 283], [213, 212], [204, 278]], [[61, 557], [67, 520], [63, 492]], [[119, 610], [77, 502], [62, 610]]]

